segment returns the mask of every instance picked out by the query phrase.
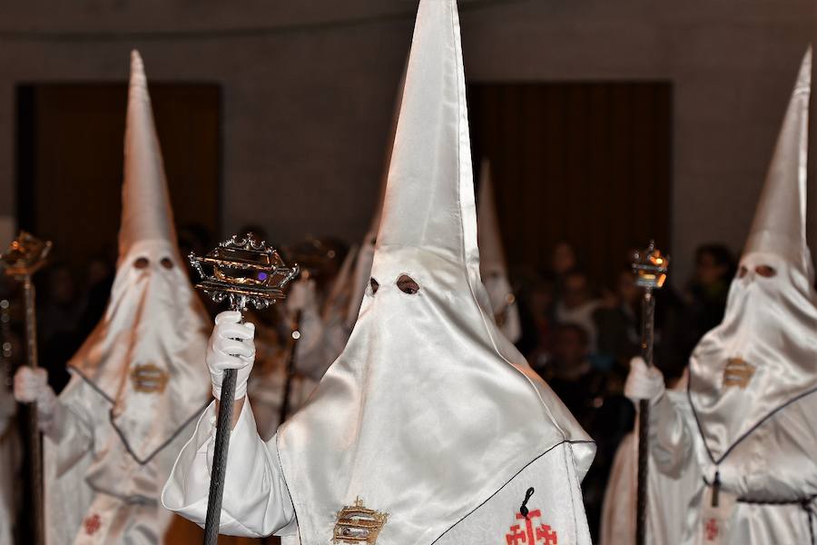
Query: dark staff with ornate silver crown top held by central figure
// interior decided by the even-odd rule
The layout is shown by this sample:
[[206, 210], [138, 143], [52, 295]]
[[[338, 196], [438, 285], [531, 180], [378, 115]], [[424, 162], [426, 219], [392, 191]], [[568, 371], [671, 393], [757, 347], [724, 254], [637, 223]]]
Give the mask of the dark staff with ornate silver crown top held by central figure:
[[[283, 288], [299, 272], [298, 265], [286, 266], [277, 251], [255, 240], [251, 233], [241, 239], [238, 235], [233, 236], [204, 257], [191, 253], [190, 263], [202, 275], [202, 282], [196, 287], [210, 295], [215, 302], [229, 300], [231, 309], [239, 312], [244, 312], [250, 305], [264, 309], [286, 299]], [[212, 272], [206, 273], [204, 267], [209, 267]], [[215, 545], [219, 540], [236, 376], [236, 370], [228, 369], [221, 382], [204, 545]]]

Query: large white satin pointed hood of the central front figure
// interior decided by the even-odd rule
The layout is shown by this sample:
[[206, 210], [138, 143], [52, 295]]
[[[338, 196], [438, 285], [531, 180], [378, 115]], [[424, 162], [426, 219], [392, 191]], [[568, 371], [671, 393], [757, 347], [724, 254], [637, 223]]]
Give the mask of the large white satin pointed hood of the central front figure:
[[581, 475], [593, 458], [482, 304], [465, 98], [456, 2], [421, 0], [373, 282], [278, 432], [304, 543], [329, 542], [359, 498], [389, 515], [378, 542], [428, 545], [556, 445], [576, 443]]

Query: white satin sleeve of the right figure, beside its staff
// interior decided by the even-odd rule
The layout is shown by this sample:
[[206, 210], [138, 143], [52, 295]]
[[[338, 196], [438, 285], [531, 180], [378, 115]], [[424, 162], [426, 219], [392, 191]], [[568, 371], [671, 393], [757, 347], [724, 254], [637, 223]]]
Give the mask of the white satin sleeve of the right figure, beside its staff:
[[659, 471], [677, 479], [693, 459], [693, 437], [684, 419], [685, 392], [667, 391], [650, 409], [650, 451]]

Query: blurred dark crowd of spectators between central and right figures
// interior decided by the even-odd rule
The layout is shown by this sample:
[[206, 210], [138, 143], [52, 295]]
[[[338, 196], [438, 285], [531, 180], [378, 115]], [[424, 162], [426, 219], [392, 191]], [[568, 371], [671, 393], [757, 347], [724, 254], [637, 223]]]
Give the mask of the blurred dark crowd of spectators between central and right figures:
[[[633, 429], [624, 396], [631, 358], [641, 352], [643, 290], [628, 257], [613, 278], [593, 278], [569, 243], [557, 243], [543, 271], [514, 271], [522, 322], [517, 347], [596, 440], [596, 460], [582, 488], [597, 535], [615, 451]], [[656, 292], [655, 364], [672, 384], [695, 344], [721, 322], [735, 271], [732, 252], [708, 243], [694, 254], [694, 276]]]

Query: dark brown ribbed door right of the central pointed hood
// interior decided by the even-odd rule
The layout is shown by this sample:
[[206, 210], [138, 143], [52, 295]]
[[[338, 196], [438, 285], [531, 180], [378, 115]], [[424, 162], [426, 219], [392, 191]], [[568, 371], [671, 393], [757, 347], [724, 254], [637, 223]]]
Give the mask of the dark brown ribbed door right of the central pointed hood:
[[477, 158], [491, 161], [511, 266], [546, 269], [572, 243], [596, 282], [628, 250], [669, 250], [672, 86], [665, 82], [472, 85]]

